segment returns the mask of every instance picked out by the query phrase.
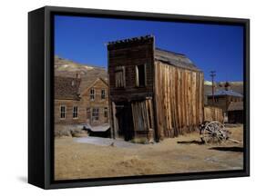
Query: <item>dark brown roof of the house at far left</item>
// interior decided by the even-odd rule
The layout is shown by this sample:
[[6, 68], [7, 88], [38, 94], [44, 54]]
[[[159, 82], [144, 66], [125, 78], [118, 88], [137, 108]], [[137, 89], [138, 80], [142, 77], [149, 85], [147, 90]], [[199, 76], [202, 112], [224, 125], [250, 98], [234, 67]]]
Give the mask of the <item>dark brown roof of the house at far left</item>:
[[55, 77], [55, 99], [79, 100], [79, 85], [81, 79], [71, 77]]

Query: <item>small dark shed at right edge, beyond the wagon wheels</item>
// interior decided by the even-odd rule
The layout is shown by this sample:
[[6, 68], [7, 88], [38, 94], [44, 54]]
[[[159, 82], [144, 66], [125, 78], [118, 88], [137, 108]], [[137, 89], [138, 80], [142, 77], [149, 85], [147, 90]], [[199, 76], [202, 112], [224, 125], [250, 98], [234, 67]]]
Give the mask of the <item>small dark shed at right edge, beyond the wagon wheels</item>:
[[231, 102], [228, 108], [229, 123], [243, 123], [243, 102]]

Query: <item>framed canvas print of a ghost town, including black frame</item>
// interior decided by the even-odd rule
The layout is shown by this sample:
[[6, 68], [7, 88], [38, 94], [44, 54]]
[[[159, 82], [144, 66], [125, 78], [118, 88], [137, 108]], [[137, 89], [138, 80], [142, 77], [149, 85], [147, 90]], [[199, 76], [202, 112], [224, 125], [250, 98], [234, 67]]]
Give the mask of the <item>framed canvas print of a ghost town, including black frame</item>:
[[46, 6], [28, 14], [28, 182], [249, 176], [250, 21]]

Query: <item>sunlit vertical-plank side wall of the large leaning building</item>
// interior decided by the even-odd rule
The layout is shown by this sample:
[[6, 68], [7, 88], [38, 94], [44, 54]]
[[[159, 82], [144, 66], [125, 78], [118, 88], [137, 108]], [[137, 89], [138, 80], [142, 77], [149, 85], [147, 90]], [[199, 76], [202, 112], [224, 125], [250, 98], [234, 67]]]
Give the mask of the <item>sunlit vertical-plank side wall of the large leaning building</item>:
[[159, 139], [192, 132], [203, 122], [203, 73], [155, 63]]

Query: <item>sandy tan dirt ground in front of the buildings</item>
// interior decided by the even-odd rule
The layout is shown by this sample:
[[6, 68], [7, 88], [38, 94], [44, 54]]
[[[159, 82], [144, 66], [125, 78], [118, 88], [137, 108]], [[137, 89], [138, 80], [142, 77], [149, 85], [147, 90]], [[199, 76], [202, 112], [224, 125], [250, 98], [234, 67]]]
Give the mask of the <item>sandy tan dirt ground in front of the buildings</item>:
[[[242, 141], [242, 125], [227, 128], [231, 138]], [[154, 144], [118, 142], [102, 145], [93, 139], [55, 139], [55, 179], [166, 174], [195, 171], [240, 170], [242, 143], [202, 144], [199, 132]], [[92, 142], [91, 142], [92, 141]], [[121, 143], [121, 144], [120, 144]], [[123, 145], [122, 143], [127, 143]]]

